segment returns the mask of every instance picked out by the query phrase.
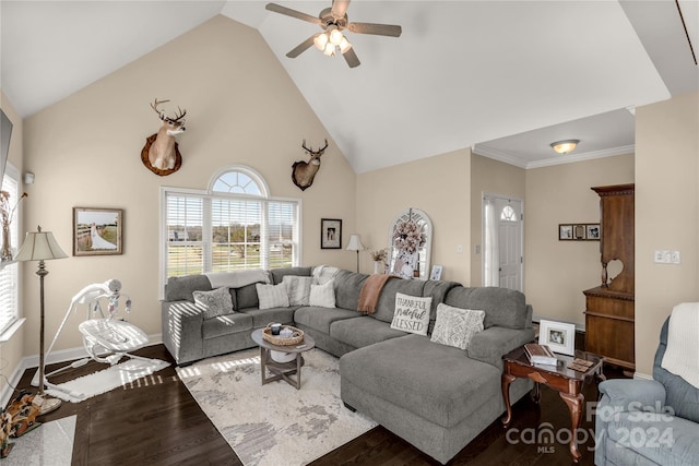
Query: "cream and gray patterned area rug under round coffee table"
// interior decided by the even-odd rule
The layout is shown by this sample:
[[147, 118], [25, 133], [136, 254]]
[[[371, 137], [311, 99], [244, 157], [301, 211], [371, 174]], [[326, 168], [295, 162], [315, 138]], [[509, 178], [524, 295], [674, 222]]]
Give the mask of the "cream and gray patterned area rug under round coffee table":
[[261, 384], [250, 349], [177, 368], [197, 403], [245, 466], [305, 465], [376, 426], [340, 399], [337, 358], [304, 353], [301, 389]]

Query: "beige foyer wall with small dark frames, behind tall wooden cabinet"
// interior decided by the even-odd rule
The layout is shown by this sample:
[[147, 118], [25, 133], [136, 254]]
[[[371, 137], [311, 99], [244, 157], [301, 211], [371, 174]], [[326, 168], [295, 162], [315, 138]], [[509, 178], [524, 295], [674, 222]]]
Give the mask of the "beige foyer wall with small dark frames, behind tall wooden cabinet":
[[633, 182], [633, 155], [526, 170], [524, 290], [540, 318], [584, 325], [583, 290], [600, 285], [600, 242], [559, 241], [558, 224], [600, 222], [590, 188]]

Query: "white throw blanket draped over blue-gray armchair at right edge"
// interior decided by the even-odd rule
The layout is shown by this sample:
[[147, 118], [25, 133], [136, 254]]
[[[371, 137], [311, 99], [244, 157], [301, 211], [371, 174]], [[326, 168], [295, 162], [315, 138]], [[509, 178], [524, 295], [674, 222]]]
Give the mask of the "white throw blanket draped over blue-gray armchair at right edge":
[[699, 389], [699, 302], [673, 308], [667, 349], [660, 366]]

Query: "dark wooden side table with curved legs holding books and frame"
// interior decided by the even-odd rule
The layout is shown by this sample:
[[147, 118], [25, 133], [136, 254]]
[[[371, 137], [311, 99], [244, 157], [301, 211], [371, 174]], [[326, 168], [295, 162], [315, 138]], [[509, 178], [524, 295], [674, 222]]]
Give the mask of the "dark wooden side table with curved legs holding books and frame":
[[582, 456], [578, 450], [577, 429], [580, 427], [580, 416], [584, 408], [584, 396], [582, 394], [582, 385], [592, 381], [600, 382], [605, 380], [602, 373], [604, 358], [592, 353], [576, 351], [576, 358], [594, 361], [594, 365], [587, 372], [578, 372], [568, 369], [568, 365], [573, 360], [570, 356], [556, 355], [558, 365], [553, 366], [533, 366], [530, 363], [524, 347], [519, 347], [502, 357], [502, 398], [507, 407], [507, 415], [502, 418], [502, 425], [508, 427], [512, 420], [512, 407], [510, 406], [510, 384], [517, 378], [531, 379], [534, 381], [534, 402], [540, 401], [540, 383], [554, 389], [558, 392], [568, 409], [570, 410], [571, 435], [570, 435], [570, 454], [574, 463], [578, 463]]

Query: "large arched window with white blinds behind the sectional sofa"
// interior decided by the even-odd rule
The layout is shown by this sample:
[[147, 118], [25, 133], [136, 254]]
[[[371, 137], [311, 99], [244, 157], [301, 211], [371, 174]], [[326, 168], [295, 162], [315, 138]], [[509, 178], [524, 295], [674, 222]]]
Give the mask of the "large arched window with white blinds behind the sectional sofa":
[[300, 202], [270, 196], [249, 167], [214, 174], [205, 191], [163, 188], [163, 277], [300, 264]]

